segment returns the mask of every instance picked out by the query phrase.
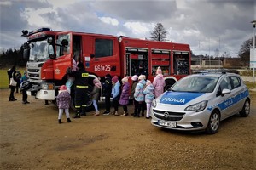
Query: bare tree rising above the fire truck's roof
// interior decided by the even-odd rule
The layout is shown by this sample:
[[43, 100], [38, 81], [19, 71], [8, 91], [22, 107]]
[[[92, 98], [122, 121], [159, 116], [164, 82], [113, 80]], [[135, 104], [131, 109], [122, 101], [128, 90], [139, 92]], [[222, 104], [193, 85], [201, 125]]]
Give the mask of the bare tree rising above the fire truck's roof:
[[167, 33], [168, 32], [166, 31], [165, 27], [161, 23], [157, 23], [154, 26], [154, 30], [151, 31], [150, 38], [155, 41], [163, 42], [166, 41]]

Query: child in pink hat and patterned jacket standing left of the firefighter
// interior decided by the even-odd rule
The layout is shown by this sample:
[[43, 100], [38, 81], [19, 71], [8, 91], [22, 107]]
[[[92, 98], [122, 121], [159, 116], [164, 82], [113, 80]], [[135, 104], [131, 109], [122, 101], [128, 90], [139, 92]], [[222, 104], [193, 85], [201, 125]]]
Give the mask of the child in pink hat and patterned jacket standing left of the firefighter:
[[67, 122], [71, 122], [69, 117], [69, 104], [70, 104], [71, 97], [65, 85], [61, 86], [59, 90], [59, 94], [57, 95], [56, 99], [57, 99], [57, 105], [59, 108], [58, 122], [61, 123], [61, 117], [64, 111], [66, 113]]

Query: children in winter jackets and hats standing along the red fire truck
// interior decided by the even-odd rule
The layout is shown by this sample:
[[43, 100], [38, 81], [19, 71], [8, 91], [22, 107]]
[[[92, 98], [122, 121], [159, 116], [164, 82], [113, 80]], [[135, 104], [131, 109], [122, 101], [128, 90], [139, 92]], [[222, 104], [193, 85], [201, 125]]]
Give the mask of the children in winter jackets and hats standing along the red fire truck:
[[[119, 77], [114, 76], [111, 78], [109, 74], [105, 77], [104, 86], [102, 87], [102, 83], [98, 78], [93, 80], [94, 88], [91, 91], [91, 99], [93, 105], [95, 107], [95, 114], [94, 116], [99, 116], [100, 112], [98, 110], [98, 99], [100, 99], [101, 89], [105, 94], [105, 106], [106, 111], [104, 111], [103, 115], [110, 114], [110, 98], [112, 97], [112, 104], [113, 104], [113, 113], [112, 116], [119, 116], [119, 105], [122, 105], [124, 113], [120, 116], [128, 116], [128, 109], [127, 105], [129, 104], [129, 99], [131, 98], [134, 105], [134, 117], [145, 116], [144, 111], [146, 112], [146, 118], [150, 118], [150, 108], [154, 98], [157, 98], [160, 94], [164, 92], [165, 87], [165, 80], [162, 75], [162, 71], [160, 67], [158, 67], [156, 71], [156, 77], [154, 77], [154, 81], [151, 82], [150, 80], [146, 80], [145, 75], [134, 75], [131, 77], [132, 84], [130, 86], [129, 77], [124, 77], [119, 82]], [[69, 85], [69, 84], [68, 84]], [[69, 87], [68, 87], [69, 88]], [[67, 88], [66, 85], [62, 85], [59, 91], [59, 94], [56, 98], [57, 105], [59, 107], [59, 117], [58, 122], [61, 123], [61, 116], [63, 111], [65, 111], [67, 116], [67, 122], [71, 122], [69, 116], [69, 104], [71, 101], [70, 97], [70, 90]], [[131, 88], [131, 94], [130, 94]]]

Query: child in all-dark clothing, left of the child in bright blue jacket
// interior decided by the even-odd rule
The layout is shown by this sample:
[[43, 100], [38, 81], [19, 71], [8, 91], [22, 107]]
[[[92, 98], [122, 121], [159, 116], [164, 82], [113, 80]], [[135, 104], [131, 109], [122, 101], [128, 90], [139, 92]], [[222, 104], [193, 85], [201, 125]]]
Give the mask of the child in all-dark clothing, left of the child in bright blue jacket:
[[104, 82], [104, 94], [105, 94], [105, 107], [106, 111], [103, 112], [103, 115], [109, 115], [110, 113], [110, 98], [111, 98], [111, 92], [112, 92], [112, 80], [110, 74], [107, 74], [105, 76], [105, 82]]

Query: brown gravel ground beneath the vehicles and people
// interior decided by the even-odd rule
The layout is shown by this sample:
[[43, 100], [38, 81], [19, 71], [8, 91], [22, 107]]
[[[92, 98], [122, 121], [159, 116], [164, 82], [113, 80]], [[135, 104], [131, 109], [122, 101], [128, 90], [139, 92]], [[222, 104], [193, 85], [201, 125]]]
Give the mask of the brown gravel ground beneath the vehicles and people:
[[15, 94], [15, 102], [8, 96], [9, 90], [2, 89], [0, 169], [256, 167], [254, 94], [251, 115], [230, 117], [214, 135], [162, 130], [143, 117], [92, 116], [93, 112], [71, 123], [63, 115], [64, 123], [58, 124], [55, 105], [31, 96], [31, 103], [22, 105], [21, 94]]

